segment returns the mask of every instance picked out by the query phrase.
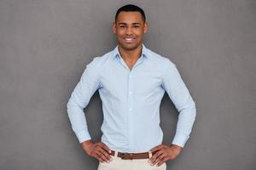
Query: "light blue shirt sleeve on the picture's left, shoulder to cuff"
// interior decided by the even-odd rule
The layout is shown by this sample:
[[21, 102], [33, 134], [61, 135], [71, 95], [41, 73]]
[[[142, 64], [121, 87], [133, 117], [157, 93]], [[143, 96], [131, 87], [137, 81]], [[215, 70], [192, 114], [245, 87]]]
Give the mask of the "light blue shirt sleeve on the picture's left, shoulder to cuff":
[[88, 105], [91, 96], [99, 88], [100, 80], [96, 60], [94, 58], [84, 70], [79, 83], [73, 89], [67, 102], [67, 115], [72, 125], [73, 132], [79, 139], [79, 143], [91, 139], [87, 122], [84, 116], [84, 108]]

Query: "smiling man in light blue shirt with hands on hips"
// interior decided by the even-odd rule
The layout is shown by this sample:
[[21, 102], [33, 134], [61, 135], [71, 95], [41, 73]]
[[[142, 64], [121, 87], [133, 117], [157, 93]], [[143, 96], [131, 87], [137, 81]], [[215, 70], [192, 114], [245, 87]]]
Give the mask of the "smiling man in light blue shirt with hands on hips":
[[[166, 169], [195, 122], [195, 102], [176, 65], [143, 45], [147, 31], [142, 8], [119, 8], [113, 22], [118, 46], [86, 66], [67, 103], [73, 131], [83, 150], [100, 161], [99, 170]], [[96, 90], [104, 115], [102, 142], [92, 142], [83, 111]], [[161, 144], [160, 101], [165, 92], [179, 111], [171, 145]]]

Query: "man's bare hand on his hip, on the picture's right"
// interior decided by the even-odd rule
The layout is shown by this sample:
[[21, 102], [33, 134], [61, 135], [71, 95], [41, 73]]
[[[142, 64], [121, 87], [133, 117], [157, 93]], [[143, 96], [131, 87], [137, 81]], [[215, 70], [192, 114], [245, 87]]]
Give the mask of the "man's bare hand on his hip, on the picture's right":
[[157, 164], [156, 166], [160, 166], [168, 160], [176, 159], [181, 150], [183, 150], [183, 148], [176, 144], [172, 144], [171, 146], [165, 144], [157, 145], [150, 150], [151, 152], [156, 152], [151, 156], [149, 162], [152, 166], [154, 166], [154, 164]]

